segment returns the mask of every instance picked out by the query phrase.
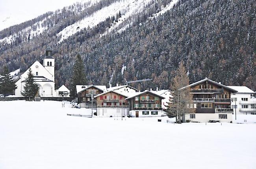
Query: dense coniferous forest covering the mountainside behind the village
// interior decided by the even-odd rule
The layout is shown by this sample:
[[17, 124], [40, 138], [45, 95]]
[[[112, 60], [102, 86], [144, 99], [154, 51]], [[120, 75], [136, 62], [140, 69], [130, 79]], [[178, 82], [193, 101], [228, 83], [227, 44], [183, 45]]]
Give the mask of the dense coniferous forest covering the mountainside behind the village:
[[[56, 59], [56, 87], [69, 86], [72, 66], [80, 54], [88, 84], [115, 85], [124, 84], [124, 78], [152, 78], [132, 85], [141, 90], [148, 86], [168, 89], [182, 61], [191, 83], [208, 77], [256, 91], [254, 0], [180, 0], [171, 10], [154, 17], [171, 2], [156, 0], [126, 18], [119, 25], [129, 25], [123, 31], [103, 35], [122, 20], [121, 11], [58, 43], [61, 37], [57, 34], [65, 27], [117, 1], [77, 3], [0, 31], [0, 39], [13, 35], [10, 43], [0, 41], [0, 72], [4, 65], [11, 71], [26, 71], [36, 60], [42, 62], [49, 45]], [[24, 31], [28, 25], [47, 29], [30, 35]]]

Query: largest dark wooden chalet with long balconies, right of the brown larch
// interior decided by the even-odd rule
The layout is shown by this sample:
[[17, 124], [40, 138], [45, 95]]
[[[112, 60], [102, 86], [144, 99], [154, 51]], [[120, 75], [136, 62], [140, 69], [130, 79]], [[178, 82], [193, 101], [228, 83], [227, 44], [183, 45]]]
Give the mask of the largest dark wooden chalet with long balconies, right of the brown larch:
[[232, 121], [233, 109], [230, 95], [236, 93], [236, 90], [208, 78], [186, 87], [191, 87], [193, 94], [193, 104], [188, 107], [195, 109], [195, 113], [186, 116], [186, 120], [191, 122]]

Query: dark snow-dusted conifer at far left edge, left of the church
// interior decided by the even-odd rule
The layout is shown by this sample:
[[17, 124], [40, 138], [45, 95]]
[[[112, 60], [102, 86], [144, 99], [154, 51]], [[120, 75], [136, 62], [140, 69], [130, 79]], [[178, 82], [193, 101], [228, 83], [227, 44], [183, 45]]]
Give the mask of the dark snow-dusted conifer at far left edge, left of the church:
[[14, 90], [17, 89], [17, 86], [6, 66], [4, 66], [4, 71], [2, 72], [2, 77], [0, 77], [0, 79], [0, 94], [3, 94], [4, 96], [13, 94]]

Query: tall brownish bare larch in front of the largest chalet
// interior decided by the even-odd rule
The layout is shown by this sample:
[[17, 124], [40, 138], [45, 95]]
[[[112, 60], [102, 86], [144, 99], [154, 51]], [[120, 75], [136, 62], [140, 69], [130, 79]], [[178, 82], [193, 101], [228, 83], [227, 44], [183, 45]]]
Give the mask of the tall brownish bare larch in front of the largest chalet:
[[190, 87], [186, 87], [188, 85], [189, 77], [181, 61], [171, 84], [173, 98], [170, 98], [167, 109], [167, 115], [169, 117], [176, 117], [177, 123], [181, 123], [181, 116], [182, 122], [185, 122], [185, 115], [195, 111], [195, 109], [189, 108], [189, 105], [193, 104], [193, 94], [190, 93]]

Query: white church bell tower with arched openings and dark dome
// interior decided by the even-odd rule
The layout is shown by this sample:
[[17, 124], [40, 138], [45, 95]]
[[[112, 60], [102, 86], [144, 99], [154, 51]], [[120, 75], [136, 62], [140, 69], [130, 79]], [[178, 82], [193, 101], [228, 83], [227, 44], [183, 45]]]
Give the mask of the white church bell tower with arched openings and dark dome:
[[43, 62], [43, 66], [45, 69], [52, 74], [52, 80], [54, 82], [54, 57], [52, 56], [52, 49], [50, 47], [46, 47], [45, 49], [45, 58]]

